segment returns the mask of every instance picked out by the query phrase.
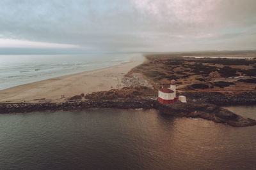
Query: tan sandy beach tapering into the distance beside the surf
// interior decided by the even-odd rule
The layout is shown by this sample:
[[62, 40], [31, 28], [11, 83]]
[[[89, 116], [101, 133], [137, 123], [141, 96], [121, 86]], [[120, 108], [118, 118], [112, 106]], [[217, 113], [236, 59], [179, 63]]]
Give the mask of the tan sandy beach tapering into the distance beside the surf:
[[[124, 75], [132, 67], [143, 63], [144, 60], [145, 58], [143, 56], [138, 55], [137, 57], [133, 57], [129, 62], [124, 62], [117, 66], [60, 76], [0, 90], [0, 102], [38, 102], [40, 99], [61, 102], [77, 94], [119, 89], [125, 86], [122, 83]], [[65, 98], [61, 99], [62, 95]]]

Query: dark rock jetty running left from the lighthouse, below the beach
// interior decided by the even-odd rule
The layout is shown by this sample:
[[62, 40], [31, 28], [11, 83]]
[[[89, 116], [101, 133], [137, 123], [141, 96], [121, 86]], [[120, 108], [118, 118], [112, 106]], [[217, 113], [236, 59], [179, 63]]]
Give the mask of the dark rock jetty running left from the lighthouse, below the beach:
[[79, 111], [89, 108], [150, 109], [156, 108], [152, 99], [108, 99], [67, 101], [64, 103], [0, 103], [0, 113], [28, 113], [32, 111]]

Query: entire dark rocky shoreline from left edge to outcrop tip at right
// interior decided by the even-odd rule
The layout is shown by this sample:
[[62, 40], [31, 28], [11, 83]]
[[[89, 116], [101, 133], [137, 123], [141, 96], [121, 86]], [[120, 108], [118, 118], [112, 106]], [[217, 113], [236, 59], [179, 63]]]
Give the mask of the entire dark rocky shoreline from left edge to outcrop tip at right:
[[156, 109], [173, 117], [192, 117], [212, 120], [234, 127], [256, 125], [256, 120], [243, 118], [231, 111], [209, 103], [161, 104], [155, 99], [111, 99], [68, 101], [65, 103], [0, 103], [0, 113], [29, 113], [32, 111], [79, 111], [90, 108]]

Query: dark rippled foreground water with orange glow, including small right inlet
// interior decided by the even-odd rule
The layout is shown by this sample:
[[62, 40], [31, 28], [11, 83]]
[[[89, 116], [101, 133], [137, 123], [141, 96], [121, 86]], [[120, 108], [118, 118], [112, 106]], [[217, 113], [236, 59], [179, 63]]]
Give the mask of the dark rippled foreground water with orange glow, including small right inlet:
[[[232, 106], [256, 118], [256, 106]], [[255, 169], [256, 126], [156, 110], [0, 115], [0, 169]]]

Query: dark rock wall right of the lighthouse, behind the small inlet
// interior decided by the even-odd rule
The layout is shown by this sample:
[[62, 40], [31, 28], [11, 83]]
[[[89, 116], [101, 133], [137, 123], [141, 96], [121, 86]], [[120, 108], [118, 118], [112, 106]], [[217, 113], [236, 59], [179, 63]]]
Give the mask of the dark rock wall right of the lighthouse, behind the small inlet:
[[220, 92], [182, 92], [191, 101], [200, 101], [212, 104], [256, 104], [256, 92], [241, 94], [223, 94]]

